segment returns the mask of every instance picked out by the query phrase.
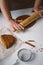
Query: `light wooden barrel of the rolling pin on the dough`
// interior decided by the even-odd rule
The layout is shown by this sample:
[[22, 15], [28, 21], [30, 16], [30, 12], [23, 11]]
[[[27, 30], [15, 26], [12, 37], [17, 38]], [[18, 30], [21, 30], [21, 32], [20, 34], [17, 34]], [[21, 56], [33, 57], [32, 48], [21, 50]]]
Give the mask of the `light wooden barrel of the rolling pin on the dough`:
[[33, 21], [37, 20], [38, 18], [40, 18], [40, 15], [37, 13], [32, 14], [30, 17], [26, 18], [24, 21], [22, 21], [20, 23], [20, 25], [22, 25], [23, 27], [26, 27], [27, 25], [29, 25], [30, 23], [32, 23]]

